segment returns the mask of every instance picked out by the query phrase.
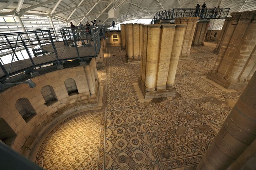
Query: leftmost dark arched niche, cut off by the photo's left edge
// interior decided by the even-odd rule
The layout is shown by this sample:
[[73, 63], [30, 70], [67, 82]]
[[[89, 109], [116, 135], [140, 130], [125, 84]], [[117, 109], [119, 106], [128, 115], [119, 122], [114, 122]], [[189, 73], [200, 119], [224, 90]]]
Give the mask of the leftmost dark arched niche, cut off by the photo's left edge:
[[8, 145], [12, 143], [15, 136], [15, 131], [12, 130], [12, 128], [3, 118], [0, 118], [0, 140]]

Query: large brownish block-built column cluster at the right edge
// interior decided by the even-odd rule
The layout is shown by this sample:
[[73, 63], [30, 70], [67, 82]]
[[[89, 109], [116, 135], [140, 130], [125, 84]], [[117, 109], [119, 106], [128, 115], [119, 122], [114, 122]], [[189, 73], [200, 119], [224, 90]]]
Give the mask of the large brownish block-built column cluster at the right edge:
[[217, 60], [207, 78], [227, 89], [237, 89], [245, 87], [256, 70], [256, 11], [230, 15]]

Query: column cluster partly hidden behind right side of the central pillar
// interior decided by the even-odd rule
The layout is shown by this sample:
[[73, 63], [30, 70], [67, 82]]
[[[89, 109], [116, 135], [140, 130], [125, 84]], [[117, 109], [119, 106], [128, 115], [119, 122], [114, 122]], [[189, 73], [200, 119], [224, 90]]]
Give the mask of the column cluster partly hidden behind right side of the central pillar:
[[196, 25], [198, 21], [198, 17], [179, 17], [175, 18], [176, 24], [185, 24], [186, 32], [183, 38], [183, 44], [180, 54], [180, 60], [190, 59], [190, 49], [194, 37], [194, 33], [196, 30]]

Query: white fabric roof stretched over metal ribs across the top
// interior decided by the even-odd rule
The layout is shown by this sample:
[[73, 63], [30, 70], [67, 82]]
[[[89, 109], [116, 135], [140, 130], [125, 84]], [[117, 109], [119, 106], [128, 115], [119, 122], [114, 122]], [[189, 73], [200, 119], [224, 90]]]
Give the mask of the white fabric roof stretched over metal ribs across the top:
[[[55, 5], [58, 4], [51, 16], [63, 22], [71, 21], [78, 24], [94, 7], [83, 20], [84, 23], [92, 21], [97, 16], [97, 20], [102, 22], [114, 20], [118, 23], [131, 19], [153, 18], [156, 12], [164, 9], [194, 8], [198, 1], [201, 5], [206, 2], [208, 8], [214, 8], [220, 4], [222, 8], [230, 8], [230, 13], [256, 10], [256, 0], [84, 0], [79, 7], [81, 0], [24, 0], [20, 12], [24, 13], [23, 10], [25, 10], [24, 14], [49, 17]], [[18, 2], [19, 0], [0, 0], [0, 16], [15, 16], [14, 10], [17, 8]], [[96, 3], [97, 5], [95, 5]], [[110, 3], [111, 5], [109, 5]], [[111, 7], [119, 7], [120, 16], [118, 18], [108, 18], [108, 10]], [[74, 10], [75, 12], [70, 16]], [[221, 29], [223, 22], [224, 19], [216, 19], [213, 29]]]

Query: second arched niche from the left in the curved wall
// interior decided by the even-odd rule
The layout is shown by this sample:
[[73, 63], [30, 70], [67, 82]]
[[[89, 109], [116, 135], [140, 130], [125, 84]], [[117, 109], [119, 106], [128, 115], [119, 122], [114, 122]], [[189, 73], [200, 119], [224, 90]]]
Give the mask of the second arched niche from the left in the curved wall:
[[36, 111], [27, 98], [18, 99], [15, 107], [26, 122], [30, 121], [36, 115]]

